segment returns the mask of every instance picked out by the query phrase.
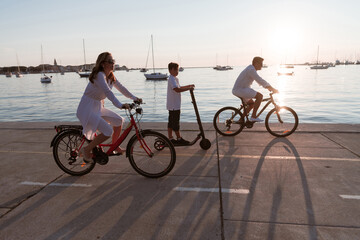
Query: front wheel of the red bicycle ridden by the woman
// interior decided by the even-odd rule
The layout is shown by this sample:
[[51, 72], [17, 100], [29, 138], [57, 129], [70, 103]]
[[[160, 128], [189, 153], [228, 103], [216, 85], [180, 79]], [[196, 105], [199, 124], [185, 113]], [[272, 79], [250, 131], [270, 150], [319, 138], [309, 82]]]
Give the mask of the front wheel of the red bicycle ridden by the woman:
[[134, 170], [149, 178], [165, 176], [176, 162], [173, 144], [163, 134], [152, 130], [141, 131], [139, 138], [134, 135], [126, 151]]

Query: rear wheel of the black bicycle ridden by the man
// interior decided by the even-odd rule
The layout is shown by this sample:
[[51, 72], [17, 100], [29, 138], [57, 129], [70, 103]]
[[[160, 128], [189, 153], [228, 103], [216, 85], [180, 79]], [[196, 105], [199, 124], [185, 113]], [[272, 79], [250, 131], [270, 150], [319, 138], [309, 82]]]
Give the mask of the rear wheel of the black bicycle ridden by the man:
[[243, 113], [235, 107], [224, 107], [215, 113], [215, 130], [223, 136], [235, 136], [244, 128]]

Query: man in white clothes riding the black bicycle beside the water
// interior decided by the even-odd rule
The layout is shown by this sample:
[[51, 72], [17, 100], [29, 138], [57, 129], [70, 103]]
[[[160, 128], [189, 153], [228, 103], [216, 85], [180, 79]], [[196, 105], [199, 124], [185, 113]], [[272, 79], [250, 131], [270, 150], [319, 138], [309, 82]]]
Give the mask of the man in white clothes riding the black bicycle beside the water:
[[[239, 77], [236, 79], [236, 82], [234, 84], [232, 93], [239, 97], [243, 98], [244, 101], [246, 101], [249, 104], [249, 108], [245, 112], [245, 114], [248, 114], [252, 108], [254, 108], [250, 121], [253, 122], [262, 122], [263, 120], [256, 117], [257, 110], [259, 109], [259, 106], [261, 104], [261, 101], [263, 99], [263, 95], [254, 89], [250, 88], [251, 84], [254, 82], [254, 80], [264, 88], [268, 89], [269, 91], [272, 91], [274, 93], [279, 92], [277, 89], [273, 88], [267, 81], [262, 79], [259, 74], [257, 74], [256, 71], [261, 70], [263, 66], [264, 59], [261, 57], [254, 57], [252, 61], [252, 65], [249, 65], [246, 67], [239, 75]], [[255, 98], [255, 103], [252, 100], [252, 98]]]

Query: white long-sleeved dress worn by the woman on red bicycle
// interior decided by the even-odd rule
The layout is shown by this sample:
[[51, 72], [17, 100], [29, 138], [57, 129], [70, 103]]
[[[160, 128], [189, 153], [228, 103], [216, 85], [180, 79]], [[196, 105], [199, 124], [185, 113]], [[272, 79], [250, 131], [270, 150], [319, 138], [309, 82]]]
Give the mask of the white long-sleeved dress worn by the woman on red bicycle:
[[113, 132], [111, 126], [121, 126], [123, 123], [124, 119], [120, 115], [103, 106], [104, 99], [108, 98], [115, 107], [122, 107], [122, 103], [111, 91], [113, 86], [124, 96], [132, 100], [137, 99], [117, 79], [114, 84], [110, 84], [106, 81], [104, 72], [99, 72], [94, 83], [89, 81], [76, 112], [83, 126], [83, 134], [89, 140], [94, 138], [96, 130], [109, 137]]

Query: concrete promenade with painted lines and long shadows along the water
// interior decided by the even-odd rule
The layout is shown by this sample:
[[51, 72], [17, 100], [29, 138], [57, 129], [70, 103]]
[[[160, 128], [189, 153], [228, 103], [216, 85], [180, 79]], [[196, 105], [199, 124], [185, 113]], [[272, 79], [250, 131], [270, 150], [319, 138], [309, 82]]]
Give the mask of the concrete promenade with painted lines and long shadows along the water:
[[[160, 179], [124, 156], [65, 174], [50, 148], [56, 124], [0, 122], [1, 240], [360, 239], [360, 124], [275, 138], [262, 124], [223, 137], [206, 123], [211, 148], [177, 147]], [[142, 128], [166, 134], [166, 123]], [[197, 135], [195, 123], [181, 128]]]

